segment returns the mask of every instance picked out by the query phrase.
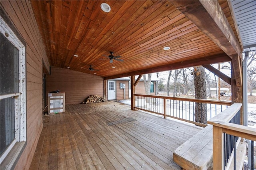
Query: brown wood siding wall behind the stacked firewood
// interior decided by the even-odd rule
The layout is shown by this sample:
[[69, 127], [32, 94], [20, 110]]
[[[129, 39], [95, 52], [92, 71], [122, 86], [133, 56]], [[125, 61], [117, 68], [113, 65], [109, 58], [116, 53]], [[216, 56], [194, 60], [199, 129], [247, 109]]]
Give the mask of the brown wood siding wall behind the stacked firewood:
[[[51, 75], [46, 75], [46, 96], [49, 91], [60, 90], [66, 93], [65, 105], [79, 104], [89, 95], [103, 96], [103, 78], [96, 75], [51, 68]], [[48, 97], [46, 97], [48, 102]]]

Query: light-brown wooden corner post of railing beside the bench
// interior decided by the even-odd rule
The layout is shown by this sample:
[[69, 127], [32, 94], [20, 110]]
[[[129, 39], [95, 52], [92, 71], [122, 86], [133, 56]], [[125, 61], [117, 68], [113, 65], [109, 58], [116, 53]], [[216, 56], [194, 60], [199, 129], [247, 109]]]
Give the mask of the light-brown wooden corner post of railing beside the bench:
[[223, 133], [221, 127], [213, 126], [213, 169], [224, 169], [224, 154], [223, 154]]

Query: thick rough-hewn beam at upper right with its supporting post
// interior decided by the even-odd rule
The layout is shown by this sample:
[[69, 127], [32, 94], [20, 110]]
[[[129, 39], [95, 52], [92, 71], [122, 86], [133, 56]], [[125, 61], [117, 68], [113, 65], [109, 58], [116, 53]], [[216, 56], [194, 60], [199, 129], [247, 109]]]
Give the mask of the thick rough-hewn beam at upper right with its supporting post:
[[171, 3], [234, 60], [236, 85], [241, 86], [242, 48], [218, 1], [173, 0]]

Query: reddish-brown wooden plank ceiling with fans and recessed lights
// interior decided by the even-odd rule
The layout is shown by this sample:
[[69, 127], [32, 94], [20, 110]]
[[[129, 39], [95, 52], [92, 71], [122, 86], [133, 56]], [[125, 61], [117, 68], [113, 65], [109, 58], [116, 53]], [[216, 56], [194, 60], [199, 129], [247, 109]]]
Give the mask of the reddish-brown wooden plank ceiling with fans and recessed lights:
[[[101, 10], [103, 2], [111, 6], [110, 12]], [[50, 65], [56, 67], [114, 77], [230, 60], [171, 1], [31, 3]], [[228, 3], [224, 0], [219, 4], [234, 31]], [[166, 46], [170, 50], [163, 50]], [[110, 51], [124, 61], [110, 63], [103, 56]], [[99, 71], [90, 71], [90, 65]]]

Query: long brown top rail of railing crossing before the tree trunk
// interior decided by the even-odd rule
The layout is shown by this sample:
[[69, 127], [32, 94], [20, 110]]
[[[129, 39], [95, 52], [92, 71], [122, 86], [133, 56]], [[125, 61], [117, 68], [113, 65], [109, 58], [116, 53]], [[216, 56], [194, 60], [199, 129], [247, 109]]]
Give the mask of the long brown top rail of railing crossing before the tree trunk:
[[184, 98], [184, 97], [170, 97], [170, 96], [156, 96], [156, 95], [140, 95], [140, 94], [134, 94], [135, 96], [141, 96], [141, 97], [154, 97], [154, 98], [160, 98], [160, 99], [171, 99], [171, 100], [180, 100], [180, 101], [191, 101], [191, 102], [198, 102], [198, 103], [209, 103], [209, 104], [215, 104], [215, 105], [231, 105], [231, 101], [216, 101], [216, 100], [207, 100], [207, 99], [190, 99], [190, 98]]

